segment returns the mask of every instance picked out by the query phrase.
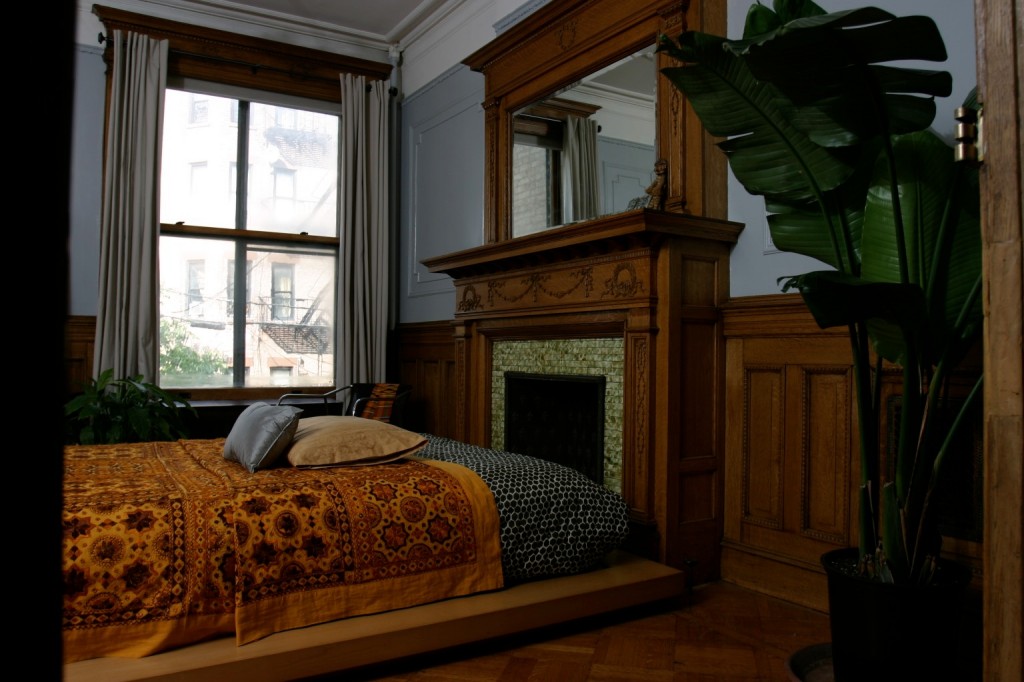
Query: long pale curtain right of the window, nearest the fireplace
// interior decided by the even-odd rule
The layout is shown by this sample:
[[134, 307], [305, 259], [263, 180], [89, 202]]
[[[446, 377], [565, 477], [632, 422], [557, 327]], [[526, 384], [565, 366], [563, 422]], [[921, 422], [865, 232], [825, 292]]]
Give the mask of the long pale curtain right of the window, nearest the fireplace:
[[388, 105], [386, 82], [342, 74], [338, 386], [386, 379]]

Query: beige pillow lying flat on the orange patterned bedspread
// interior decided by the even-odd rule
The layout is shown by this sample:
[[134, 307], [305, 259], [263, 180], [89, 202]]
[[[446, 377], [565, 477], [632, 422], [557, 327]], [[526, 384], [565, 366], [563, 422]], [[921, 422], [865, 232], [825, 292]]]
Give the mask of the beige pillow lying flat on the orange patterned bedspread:
[[381, 464], [423, 450], [427, 439], [387, 422], [361, 417], [299, 420], [288, 462], [294, 467]]

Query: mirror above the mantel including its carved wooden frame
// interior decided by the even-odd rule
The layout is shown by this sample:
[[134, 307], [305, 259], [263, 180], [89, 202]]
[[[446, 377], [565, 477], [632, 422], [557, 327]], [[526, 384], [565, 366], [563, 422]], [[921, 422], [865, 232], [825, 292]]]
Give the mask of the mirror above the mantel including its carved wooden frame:
[[[681, 94], [659, 75], [673, 63], [654, 51], [659, 35], [678, 36], [684, 27], [717, 28], [708, 23], [724, 13], [713, 4], [549, 2], [464, 60], [485, 79], [486, 243], [629, 210], [631, 201], [637, 206], [634, 200], [643, 199], [660, 160], [668, 171], [663, 210], [725, 217], [725, 160], [711, 148], [714, 140]], [[550, 114], [552, 105], [560, 113], [539, 128], [538, 119], [545, 117], [538, 111]], [[565, 112], [581, 105], [592, 111]], [[568, 190], [572, 174], [551, 172], [553, 162], [560, 171], [574, 163], [562, 153], [570, 121], [596, 138], [597, 151], [583, 156], [578, 167], [591, 174], [583, 182], [591, 187], [586, 200]], [[560, 152], [557, 159], [554, 148]], [[527, 166], [542, 170], [528, 172]]]

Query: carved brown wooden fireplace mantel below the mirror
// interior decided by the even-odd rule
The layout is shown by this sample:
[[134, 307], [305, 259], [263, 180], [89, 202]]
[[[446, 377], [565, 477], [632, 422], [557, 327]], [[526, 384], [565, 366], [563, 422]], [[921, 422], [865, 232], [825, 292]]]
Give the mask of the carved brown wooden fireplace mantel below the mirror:
[[[717, 570], [719, 306], [741, 225], [642, 209], [424, 261], [456, 290], [458, 438], [489, 445], [492, 345], [621, 337], [623, 495], [651, 553]], [[701, 574], [701, 570], [706, 571]]]

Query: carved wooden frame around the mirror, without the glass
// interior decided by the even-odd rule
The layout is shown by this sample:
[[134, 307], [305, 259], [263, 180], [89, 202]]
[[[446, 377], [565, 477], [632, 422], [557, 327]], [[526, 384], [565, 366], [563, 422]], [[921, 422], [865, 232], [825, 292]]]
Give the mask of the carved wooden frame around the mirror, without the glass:
[[[467, 57], [463, 63], [484, 76], [484, 243], [512, 239], [515, 112], [655, 44], [662, 34], [676, 38], [692, 29], [724, 35], [725, 27], [721, 0], [558, 0]], [[656, 56], [659, 71], [675, 66]], [[665, 210], [725, 218], [725, 157], [712, 148], [715, 140], [660, 73], [655, 118], [655, 158], [669, 162]]]

